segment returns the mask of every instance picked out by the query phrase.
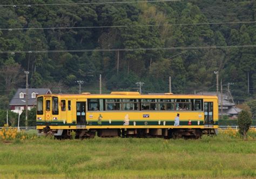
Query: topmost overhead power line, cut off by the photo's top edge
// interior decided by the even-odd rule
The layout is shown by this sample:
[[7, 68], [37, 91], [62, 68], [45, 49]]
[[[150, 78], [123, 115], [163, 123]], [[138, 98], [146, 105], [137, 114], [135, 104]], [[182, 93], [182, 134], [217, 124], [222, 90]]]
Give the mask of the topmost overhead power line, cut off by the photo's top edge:
[[0, 7], [14, 7], [17, 6], [51, 6], [51, 5], [90, 5], [90, 4], [128, 4], [128, 3], [158, 3], [158, 2], [179, 2], [181, 0], [158, 0], [158, 1], [123, 1], [123, 2], [91, 2], [91, 3], [53, 3], [53, 4], [1, 4]]

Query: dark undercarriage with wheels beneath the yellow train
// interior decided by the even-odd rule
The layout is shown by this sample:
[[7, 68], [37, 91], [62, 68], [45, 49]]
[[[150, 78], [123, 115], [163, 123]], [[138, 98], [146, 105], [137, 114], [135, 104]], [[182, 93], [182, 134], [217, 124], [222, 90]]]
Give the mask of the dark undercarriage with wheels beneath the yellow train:
[[200, 139], [203, 134], [215, 135], [217, 130], [193, 128], [145, 128], [145, 129], [50, 129], [38, 130], [38, 135], [54, 136], [56, 139], [88, 139], [98, 137], [134, 137], [134, 138], [164, 138], [164, 139]]

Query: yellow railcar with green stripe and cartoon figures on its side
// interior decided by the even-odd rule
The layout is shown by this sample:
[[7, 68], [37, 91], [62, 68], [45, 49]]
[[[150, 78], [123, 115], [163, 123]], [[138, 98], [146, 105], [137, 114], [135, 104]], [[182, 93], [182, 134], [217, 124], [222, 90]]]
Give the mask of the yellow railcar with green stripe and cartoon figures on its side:
[[50, 94], [37, 97], [38, 135], [199, 138], [217, 134], [218, 98], [211, 95]]

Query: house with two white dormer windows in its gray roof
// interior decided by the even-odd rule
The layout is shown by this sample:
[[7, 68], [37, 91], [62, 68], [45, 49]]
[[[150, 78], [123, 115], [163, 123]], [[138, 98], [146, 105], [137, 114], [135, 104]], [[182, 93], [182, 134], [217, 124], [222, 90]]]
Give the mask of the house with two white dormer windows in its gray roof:
[[[51, 94], [47, 88], [29, 88], [28, 89], [28, 110], [36, 107], [37, 95]], [[14, 97], [10, 101], [10, 109], [15, 113], [22, 113], [26, 106], [26, 88], [18, 88]]]

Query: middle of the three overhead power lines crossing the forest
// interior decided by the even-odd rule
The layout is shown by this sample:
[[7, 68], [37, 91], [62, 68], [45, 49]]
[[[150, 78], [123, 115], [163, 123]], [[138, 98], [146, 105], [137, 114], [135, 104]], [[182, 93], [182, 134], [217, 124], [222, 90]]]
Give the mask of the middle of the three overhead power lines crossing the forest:
[[183, 25], [214, 25], [214, 24], [249, 24], [256, 23], [256, 21], [247, 21], [247, 22], [217, 22], [217, 23], [188, 23], [188, 24], [147, 24], [147, 25], [113, 25], [113, 26], [82, 26], [82, 27], [28, 27], [28, 28], [3, 28], [0, 30], [40, 30], [40, 29], [96, 29], [96, 28], [118, 28], [118, 27], [148, 27], [148, 26], [183, 26]]

